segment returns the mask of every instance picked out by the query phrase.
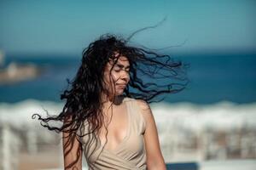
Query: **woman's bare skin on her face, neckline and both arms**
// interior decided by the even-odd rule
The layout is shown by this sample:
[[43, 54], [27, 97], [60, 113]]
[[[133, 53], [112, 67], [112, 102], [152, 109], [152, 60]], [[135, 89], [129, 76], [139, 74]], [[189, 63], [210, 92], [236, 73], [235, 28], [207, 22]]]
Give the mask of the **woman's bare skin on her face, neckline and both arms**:
[[[129, 77], [129, 61], [125, 58], [125, 56], [120, 56], [116, 65], [113, 66], [113, 62], [109, 62], [106, 65], [104, 81], [106, 85], [110, 88], [109, 92], [110, 96], [102, 95], [103, 103], [103, 113], [108, 127], [108, 143], [105, 144], [105, 133], [106, 129], [102, 126], [100, 130], [100, 136], [102, 144], [105, 144], [106, 150], [114, 150], [118, 144], [125, 138], [125, 133], [127, 129], [127, 113], [125, 109], [125, 104], [122, 103], [122, 99], [120, 95], [123, 94], [126, 84], [130, 81]], [[109, 73], [111, 67], [113, 66], [113, 70]], [[118, 84], [125, 84], [124, 86], [120, 86]], [[115, 85], [115, 86], [114, 86]], [[115, 94], [114, 94], [115, 91]], [[110, 105], [113, 105], [110, 107]], [[145, 148], [146, 148], [146, 156], [147, 156], [147, 167], [148, 170], [166, 170], [166, 164], [164, 158], [161, 154], [160, 150], [160, 142], [157, 133], [157, 127], [154, 122], [154, 116], [152, 111], [147, 104], [147, 102], [137, 99], [137, 104], [141, 108], [141, 113], [143, 114], [143, 118], [146, 122], [146, 130], [143, 135]], [[108, 108], [111, 108], [109, 110]], [[122, 113], [122, 114], [120, 114]], [[125, 116], [124, 116], [125, 114]], [[67, 136], [67, 133], [63, 133], [63, 136]], [[67, 143], [67, 139], [63, 139], [63, 144]], [[64, 147], [63, 147], [64, 150]], [[64, 150], [64, 153], [67, 149]], [[77, 156], [79, 153], [79, 156]], [[82, 169], [82, 149], [81, 144], [78, 139], [74, 140], [72, 151], [70, 151], [67, 156], [64, 156], [64, 166], [65, 169], [73, 169], [67, 168], [67, 165], [70, 164], [73, 160], [79, 161], [76, 162], [73, 167], [74, 169]]]

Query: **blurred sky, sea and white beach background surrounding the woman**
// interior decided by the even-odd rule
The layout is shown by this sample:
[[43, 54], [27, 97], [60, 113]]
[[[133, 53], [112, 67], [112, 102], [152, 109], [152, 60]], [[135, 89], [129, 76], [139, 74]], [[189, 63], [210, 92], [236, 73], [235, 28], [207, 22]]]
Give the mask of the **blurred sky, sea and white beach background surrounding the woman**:
[[[256, 167], [256, 2], [0, 1], [0, 169], [63, 167], [58, 114], [82, 50], [105, 33], [189, 63], [189, 87], [150, 105], [170, 169]], [[84, 161], [84, 169], [86, 162]]]

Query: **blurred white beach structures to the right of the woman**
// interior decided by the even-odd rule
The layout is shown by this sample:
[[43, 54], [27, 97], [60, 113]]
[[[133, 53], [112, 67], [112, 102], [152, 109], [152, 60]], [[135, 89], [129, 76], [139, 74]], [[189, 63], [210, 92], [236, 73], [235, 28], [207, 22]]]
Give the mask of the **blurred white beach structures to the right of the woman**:
[[152, 107], [165, 161], [256, 158], [256, 104]]

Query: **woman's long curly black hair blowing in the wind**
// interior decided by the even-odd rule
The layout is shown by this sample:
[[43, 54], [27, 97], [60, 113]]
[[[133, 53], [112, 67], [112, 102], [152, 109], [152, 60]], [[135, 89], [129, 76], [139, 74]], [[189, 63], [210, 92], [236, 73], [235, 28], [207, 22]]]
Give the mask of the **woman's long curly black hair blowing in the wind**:
[[[186, 88], [189, 64], [175, 61], [168, 54], [158, 54], [156, 50], [134, 47], [130, 39], [106, 34], [91, 42], [84, 48], [76, 76], [72, 81], [67, 79], [69, 86], [61, 94], [61, 99], [66, 100], [61, 113], [45, 118], [34, 114], [32, 118], [38, 116], [42, 126], [57, 133], [69, 133], [73, 138], [87, 120], [92, 129], [90, 133], [97, 133], [103, 123], [104, 68], [114, 59], [115, 52], [125, 56], [130, 63], [130, 82], [124, 90], [126, 97], [143, 99], [149, 104], [164, 99], [160, 94], [173, 94]], [[49, 125], [49, 122], [61, 122], [61, 127]]]

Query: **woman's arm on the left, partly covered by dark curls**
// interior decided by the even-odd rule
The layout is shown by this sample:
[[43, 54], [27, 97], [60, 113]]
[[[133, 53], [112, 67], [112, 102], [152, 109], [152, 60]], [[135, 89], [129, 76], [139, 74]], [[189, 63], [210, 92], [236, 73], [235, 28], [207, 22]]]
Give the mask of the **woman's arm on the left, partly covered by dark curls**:
[[79, 139], [77, 139], [77, 134], [62, 132], [62, 146], [65, 170], [81, 170], [82, 146]]

